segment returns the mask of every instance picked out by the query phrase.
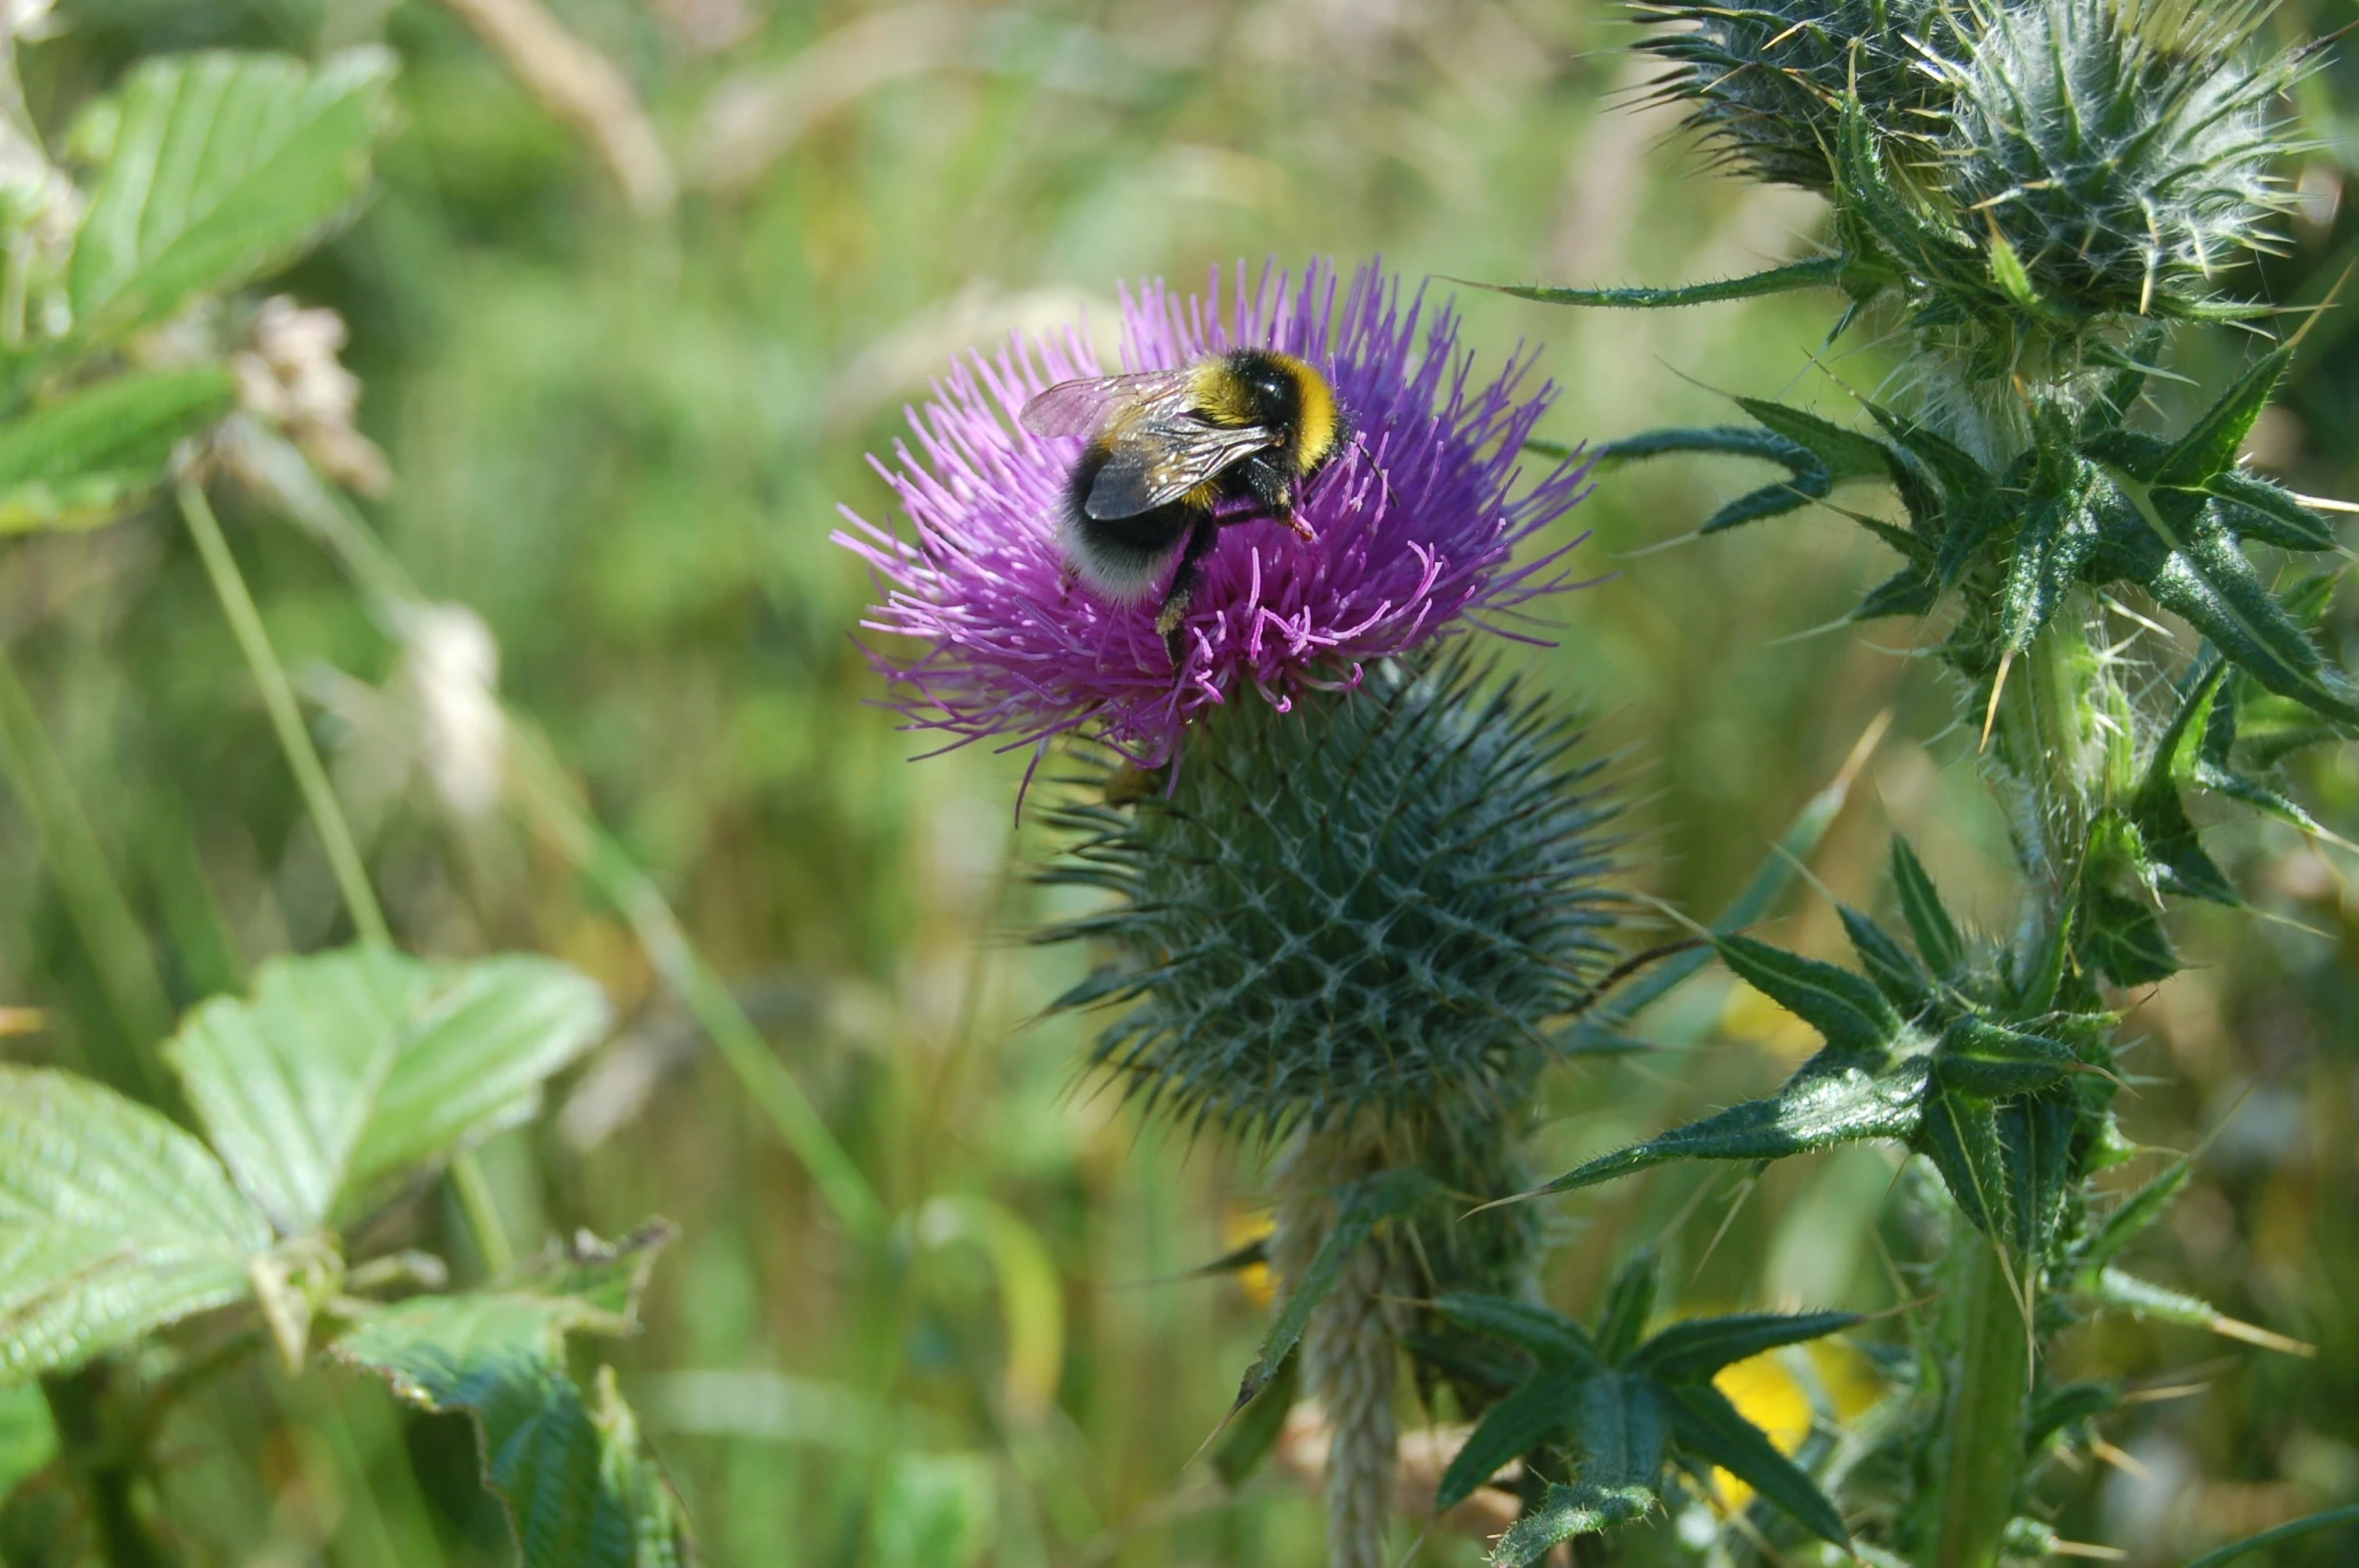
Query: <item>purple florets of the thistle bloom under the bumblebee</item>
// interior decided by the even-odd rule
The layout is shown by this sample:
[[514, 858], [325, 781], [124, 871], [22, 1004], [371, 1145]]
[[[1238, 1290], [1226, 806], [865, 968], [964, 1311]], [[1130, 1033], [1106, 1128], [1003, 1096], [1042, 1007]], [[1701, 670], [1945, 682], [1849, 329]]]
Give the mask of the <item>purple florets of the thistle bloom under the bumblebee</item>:
[[[1057, 545], [1057, 516], [1078, 439], [1036, 439], [1017, 413], [1045, 387], [1099, 375], [1076, 330], [981, 351], [911, 410], [918, 450], [870, 457], [918, 528], [901, 540], [861, 519], [835, 540], [882, 578], [885, 604], [861, 625], [927, 644], [911, 660], [870, 651], [913, 729], [951, 745], [1005, 736], [1003, 750], [1045, 745], [1087, 726], [1142, 766], [1168, 762], [1187, 724], [1243, 686], [1281, 712], [1305, 686], [1356, 686], [1371, 660], [1406, 653], [1453, 627], [1489, 625], [1540, 594], [1573, 587], [1559, 561], [1510, 554], [1585, 495], [1588, 465], [1559, 462], [1510, 500], [1531, 427], [1555, 387], [1522, 391], [1531, 356], [1474, 382], [1458, 351], [1458, 318], [1406, 302], [1380, 266], [1361, 266], [1335, 314], [1335, 269], [1312, 262], [1300, 285], [1264, 269], [1220, 307], [1161, 281], [1123, 290], [1123, 365], [1158, 370], [1238, 344], [1319, 365], [1356, 436], [1305, 486], [1302, 542], [1283, 523], [1222, 528], [1182, 622], [1172, 670], [1154, 630], [1156, 604], [1113, 604], [1080, 582]], [[1573, 540], [1578, 545], [1581, 540]], [[1491, 625], [1489, 630], [1500, 630]], [[1512, 637], [1512, 632], [1507, 632]], [[1529, 639], [1526, 639], [1529, 641]]]

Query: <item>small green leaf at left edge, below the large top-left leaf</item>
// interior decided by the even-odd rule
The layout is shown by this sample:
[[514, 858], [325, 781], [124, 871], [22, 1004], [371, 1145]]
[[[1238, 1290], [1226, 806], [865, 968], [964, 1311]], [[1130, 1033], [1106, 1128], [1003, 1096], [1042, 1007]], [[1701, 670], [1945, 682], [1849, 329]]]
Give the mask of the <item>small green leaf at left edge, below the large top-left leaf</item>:
[[163, 481], [172, 448], [229, 413], [226, 370], [137, 370], [0, 427], [0, 535], [90, 528]]

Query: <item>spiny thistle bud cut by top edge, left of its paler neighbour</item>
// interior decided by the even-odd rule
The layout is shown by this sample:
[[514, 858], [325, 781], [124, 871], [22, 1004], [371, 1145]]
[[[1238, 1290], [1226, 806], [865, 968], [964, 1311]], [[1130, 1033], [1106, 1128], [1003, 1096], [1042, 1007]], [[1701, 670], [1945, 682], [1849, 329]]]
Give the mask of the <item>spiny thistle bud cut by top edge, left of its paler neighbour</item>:
[[1835, 125], [1859, 94], [1899, 165], [1930, 160], [1951, 80], [1944, 0], [1760, 0], [1640, 5], [1665, 24], [1642, 47], [1675, 64], [1656, 87], [1694, 101], [1691, 123], [1755, 179], [1833, 191]]

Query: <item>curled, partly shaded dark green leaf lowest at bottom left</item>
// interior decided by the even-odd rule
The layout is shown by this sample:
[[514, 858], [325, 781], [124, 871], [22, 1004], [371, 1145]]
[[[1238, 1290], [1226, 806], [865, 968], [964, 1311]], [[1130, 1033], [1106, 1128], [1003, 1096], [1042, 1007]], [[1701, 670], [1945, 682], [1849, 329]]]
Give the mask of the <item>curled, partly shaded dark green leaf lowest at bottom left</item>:
[[413, 1297], [370, 1313], [330, 1353], [413, 1405], [477, 1419], [484, 1481], [524, 1568], [670, 1568], [689, 1547], [637, 1424], [611, 1379], [592, 1408], [564, 1368], [564, 1332], [594, 1320], [559, 1297]]

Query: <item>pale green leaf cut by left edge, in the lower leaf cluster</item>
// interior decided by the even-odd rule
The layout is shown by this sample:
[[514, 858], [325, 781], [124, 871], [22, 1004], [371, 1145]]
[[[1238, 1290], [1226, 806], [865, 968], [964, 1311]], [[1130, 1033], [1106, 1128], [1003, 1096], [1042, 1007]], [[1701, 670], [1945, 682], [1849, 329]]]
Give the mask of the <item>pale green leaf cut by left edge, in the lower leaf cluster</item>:
[[94, 1082], [0, 1066], [0, 1382], [243, 1299], [269, 1245], [193, 1137]]

